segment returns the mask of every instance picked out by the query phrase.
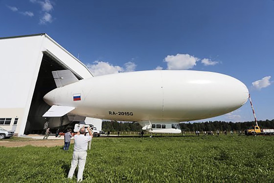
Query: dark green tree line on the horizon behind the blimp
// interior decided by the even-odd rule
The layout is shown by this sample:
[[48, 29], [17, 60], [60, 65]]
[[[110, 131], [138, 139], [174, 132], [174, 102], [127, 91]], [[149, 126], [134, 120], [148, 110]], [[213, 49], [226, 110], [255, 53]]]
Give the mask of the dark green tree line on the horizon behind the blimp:
[[[245, 130], [255, 125], [254, 121], [246, 122], [225, 122], [225, 121], [206, 121], [206, 122], [181, 122], [179, 123], [182, 130], [185, 131], [216, 131], [216, 130]], [[258, 121], [260, 128], [274, 129], [274, 119]], [[137, 122], [118, 122], [118, 121], [102, 121], [103, 131], [120, 131], [120, 132], [140, 132], [142, 126]]]

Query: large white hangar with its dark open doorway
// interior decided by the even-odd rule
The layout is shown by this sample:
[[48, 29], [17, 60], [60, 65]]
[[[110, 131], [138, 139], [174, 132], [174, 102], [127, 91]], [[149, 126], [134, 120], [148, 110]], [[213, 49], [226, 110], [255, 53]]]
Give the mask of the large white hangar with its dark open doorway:
[[69, 69], [80, 80], [93, 77], [88, 68], [47, 34], [0, 38], [0, 126], [18, 136], [57, 128], [69, 116], [46, 119], [43, 96], [56, 88], [51, 71]]

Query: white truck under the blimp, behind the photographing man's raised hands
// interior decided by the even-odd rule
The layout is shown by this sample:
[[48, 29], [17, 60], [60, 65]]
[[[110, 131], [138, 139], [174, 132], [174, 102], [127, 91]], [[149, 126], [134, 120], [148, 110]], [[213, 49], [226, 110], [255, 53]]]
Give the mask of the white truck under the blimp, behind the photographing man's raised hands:
[[[93, 130], [93, 137], [99, 137], [101, 132], [102, 132], [102, 120], [101, 119], [97, 119], [97, 118], [89, 118], [86, 117], [85, 119], [85, 124], [75, 124], [74, 125], [74, 132], [78, 132], [80, 130], [80, 128], [82, 127], [88, 127], [90, 126], [90, 128]], [[86, 133], [88, 132], [88, 130], [86, 130]]]

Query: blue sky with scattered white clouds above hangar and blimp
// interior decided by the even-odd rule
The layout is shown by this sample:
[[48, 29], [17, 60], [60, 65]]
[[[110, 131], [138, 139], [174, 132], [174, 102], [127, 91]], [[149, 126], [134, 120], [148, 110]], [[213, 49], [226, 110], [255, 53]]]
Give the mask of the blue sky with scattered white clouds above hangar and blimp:
[[[259, 120], [274, 118], [273, 20], [273, 0], [0, 1], [0, 37], [47, 33], [95, 75], [156, 68], [230, 75], [249, 88]], [[247, 102], [210, 120], [253, 115]]]

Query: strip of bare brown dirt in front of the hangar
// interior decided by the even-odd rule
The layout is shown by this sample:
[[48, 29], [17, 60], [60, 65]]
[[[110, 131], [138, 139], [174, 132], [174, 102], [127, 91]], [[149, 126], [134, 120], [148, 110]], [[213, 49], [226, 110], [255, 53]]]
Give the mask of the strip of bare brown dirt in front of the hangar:
[[[74, 140], [71, 139], [70, 143], [73, 143]], [[23, 146], [38, 146], [38, 147], [54, 147], [54, 146], [63, 146], [64, 140], [27, 140], [27, 141], [8, 141], [8, 140], [1, 140], [0, 146], [5, 147], [23, 147]]]

